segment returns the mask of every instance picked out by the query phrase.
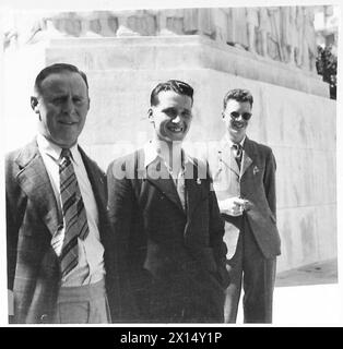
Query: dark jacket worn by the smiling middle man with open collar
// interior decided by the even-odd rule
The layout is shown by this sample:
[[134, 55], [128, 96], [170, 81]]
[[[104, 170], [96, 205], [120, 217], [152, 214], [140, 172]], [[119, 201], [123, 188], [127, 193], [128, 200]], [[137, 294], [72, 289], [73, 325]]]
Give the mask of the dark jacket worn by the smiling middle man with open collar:
[[226, 246], [206, 168], [196, 160], [186, 164], [185, 212], [159, 158], [146, 168], [143, 164], [140, 149], [107, 171], [118, 258], [117, 321], [179, 322], [168, 312], [184, 305], [197, 312], [188, 321], [222, 321]]

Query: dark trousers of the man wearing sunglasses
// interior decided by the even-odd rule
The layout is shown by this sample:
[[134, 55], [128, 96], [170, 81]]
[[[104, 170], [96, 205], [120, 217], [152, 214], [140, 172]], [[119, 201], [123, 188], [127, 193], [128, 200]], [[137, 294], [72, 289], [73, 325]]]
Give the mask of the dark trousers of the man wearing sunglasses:
[[241, 285], [245, 323], [271, 323], [276, 257], [261, 253], [246, 217], [234, 256], [226, 262], [230, 285], [226, 289], [225, 323], [235, 323]]

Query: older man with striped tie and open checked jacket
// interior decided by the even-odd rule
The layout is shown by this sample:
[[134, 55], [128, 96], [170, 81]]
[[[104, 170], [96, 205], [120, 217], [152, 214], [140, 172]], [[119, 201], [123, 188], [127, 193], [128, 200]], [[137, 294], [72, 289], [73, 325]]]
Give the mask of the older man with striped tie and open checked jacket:
[[31, 106], [38, 134], [5, 158], [12, 323], [107, 323], [114, 257], [105, 173], [78, 145], [90, 109], [86, 75], [40, 71]]

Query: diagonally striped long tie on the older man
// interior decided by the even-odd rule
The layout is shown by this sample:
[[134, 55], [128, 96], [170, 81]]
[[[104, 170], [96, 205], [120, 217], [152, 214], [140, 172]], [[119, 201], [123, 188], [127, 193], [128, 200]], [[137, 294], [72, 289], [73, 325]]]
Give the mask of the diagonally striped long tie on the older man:
[[62, 149], [59, 166], [60, 194], [66, 222], [64, 240], [60, 255], [62, 277], [78, 265], [78, 238], [80, 237], [84, 240], [90, 231], [83, 200], [70, 156], [69, 149]]

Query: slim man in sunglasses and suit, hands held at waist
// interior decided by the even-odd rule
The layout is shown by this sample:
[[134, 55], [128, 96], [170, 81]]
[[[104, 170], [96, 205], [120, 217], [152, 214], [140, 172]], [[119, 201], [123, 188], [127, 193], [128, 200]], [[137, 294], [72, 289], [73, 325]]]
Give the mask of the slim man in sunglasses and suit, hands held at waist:
[[241, 284], [244, 321], [271, 323], [280, 237], [276, 228], [275, 159], [272, 149], [249, 140], [252, 95], [229, 91], [224, 97], [226, 134], [209, 163], [225, 220], [227, 270], [225, 322], [236, 322]]

